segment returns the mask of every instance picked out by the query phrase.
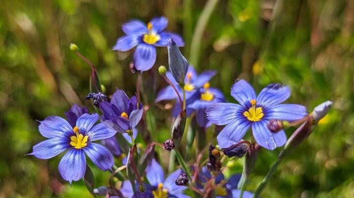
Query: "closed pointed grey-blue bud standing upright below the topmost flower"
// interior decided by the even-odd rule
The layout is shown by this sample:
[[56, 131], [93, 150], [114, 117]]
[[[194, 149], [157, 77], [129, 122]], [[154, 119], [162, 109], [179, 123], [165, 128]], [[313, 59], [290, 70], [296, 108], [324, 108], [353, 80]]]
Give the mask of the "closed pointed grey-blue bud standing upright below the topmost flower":
[[179, 51], [173, 39], [170, 39], [167, 49], [171, 73], [179, 84], [184, 84], [184, 78], [188, 70], [188, 62]]

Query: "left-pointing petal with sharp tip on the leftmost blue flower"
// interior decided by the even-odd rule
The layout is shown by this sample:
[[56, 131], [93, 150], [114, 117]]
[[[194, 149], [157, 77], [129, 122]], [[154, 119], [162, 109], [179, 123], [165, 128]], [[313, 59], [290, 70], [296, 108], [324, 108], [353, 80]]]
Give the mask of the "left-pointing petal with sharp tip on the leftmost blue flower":
[[52, 138], [33, 146], [33, 152], [29, 153], [29, 155], [34, 155], [39, 159], [49, 159], [69, 148], [68, 139]]

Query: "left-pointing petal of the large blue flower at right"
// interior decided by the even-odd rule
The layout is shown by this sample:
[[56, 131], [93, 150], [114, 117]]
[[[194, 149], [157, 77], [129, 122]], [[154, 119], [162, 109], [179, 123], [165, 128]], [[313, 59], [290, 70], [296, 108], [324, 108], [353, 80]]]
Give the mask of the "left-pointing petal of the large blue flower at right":
[[232, 123], [243, 113], [243, 108], [233, 103], [214, 103], [207, 110], [207, 119], [216, 125]]

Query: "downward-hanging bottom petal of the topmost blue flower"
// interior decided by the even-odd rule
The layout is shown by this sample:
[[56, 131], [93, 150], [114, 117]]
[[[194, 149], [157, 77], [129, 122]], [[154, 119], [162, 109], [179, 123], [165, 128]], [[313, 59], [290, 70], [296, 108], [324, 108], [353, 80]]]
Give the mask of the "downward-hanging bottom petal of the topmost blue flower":
[[156, 62], [156, 49], [148, 44], [139, 44], [134, 53], [134, 67], [138, 71], [148, 71]]

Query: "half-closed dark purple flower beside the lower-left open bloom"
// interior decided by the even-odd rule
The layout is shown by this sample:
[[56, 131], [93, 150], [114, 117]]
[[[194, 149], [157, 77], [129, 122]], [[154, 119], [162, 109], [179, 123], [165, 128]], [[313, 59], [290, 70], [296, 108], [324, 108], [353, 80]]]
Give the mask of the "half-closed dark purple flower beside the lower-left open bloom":
[[143, 105], [137, 102], [136, 96], [129, 99], [123, 90], [117, 89], [111, 102], [100, 103], [102, 123], [118, 132], [131, 133], [143, 116]]

